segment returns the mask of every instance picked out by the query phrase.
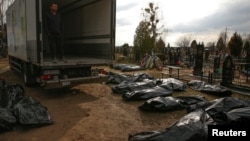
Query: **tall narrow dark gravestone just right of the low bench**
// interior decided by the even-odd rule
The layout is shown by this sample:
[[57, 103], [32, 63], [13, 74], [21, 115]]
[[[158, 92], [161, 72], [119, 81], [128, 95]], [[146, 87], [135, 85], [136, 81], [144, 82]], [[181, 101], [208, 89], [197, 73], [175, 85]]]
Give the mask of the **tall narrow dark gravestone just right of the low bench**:
[[202, 67], [203, 67], [203, 52], [204, 52], [204, 45], [198, 44], [195, 48], [195, 65], [193, 70], [193, 75], [201, 76], [203, 74]]

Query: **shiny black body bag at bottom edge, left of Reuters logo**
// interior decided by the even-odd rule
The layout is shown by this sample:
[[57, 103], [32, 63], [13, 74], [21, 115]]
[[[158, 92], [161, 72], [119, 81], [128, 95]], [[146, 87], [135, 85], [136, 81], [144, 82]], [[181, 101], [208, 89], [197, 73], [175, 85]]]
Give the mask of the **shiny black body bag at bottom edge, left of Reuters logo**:
[[206, 113], [196, 110], [163, 131], [140, 132], [129, 135], [128, 141], [206, 141]]

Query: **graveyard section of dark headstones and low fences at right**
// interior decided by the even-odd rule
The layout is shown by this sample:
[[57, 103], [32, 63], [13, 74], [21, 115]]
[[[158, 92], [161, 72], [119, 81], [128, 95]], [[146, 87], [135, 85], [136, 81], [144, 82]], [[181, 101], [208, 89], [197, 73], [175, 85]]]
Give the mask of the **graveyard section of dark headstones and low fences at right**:
[[[181, 49], [187, 53], [180, 55]], [[229, 54], [216, 55], [218, 53], [205, 50], [203, 44], [198, 44], [193, 53], [185, 48], [181, 49], [168, 49], [169, 61], [164, 67], [166, 71], [162, 72], [163, 75], [171, 77], [175, 74], [173, 77], [182, 80], [200, 79], [246, 94], [250, 87], [249, 50], [245, 58], [233, 58]], [[183, 65], [178, 62], [183, 62]]]

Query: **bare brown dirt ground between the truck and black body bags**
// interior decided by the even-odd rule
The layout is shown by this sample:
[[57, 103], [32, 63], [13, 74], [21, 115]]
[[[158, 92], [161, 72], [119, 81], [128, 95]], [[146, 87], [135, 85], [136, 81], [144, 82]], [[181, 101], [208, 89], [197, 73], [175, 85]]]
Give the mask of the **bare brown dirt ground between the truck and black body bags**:
[[[9, 83], [22, 84], [20, 76], [8, 70], [8, 60], [0, 59], [0, 76]], [[6, 69], [7, 68], [7, 69]], [[160, 75], [157, 70], [148, 73]], [[124, 101], [112, 93], [112, 85], [81, 84], [71, 89], [44, 90], [24, 87], [25, 94], [48, 108], [54, 124], [42, 127], [18, 128], [0, 133], [0, 141], [127, 141], [129, 134], [163, 130], [186, 114], [185, 110], [167, 113], [142, 112], [138, 106], [144, 101]], [[187, 89], [179, 95], [202, 95], [208, 100], [218, 98]], [[233, 94], [247, 98], [248, 96]]]

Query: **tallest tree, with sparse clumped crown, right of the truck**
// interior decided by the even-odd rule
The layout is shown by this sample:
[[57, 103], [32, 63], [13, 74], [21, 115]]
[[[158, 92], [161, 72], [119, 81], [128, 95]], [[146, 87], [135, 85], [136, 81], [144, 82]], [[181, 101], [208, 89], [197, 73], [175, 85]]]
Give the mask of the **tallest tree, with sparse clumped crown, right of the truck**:
[[161, 22], [159, 7], [150, 2], [148, 7], [142, 10], [143, 20], [140, 21], [134, 35], [133, 53], [136, 60], [140, 59], [146, 53], [150, 54], [158, 51], [157, 45], [165, 45], [161, 35], [166, 29]]

